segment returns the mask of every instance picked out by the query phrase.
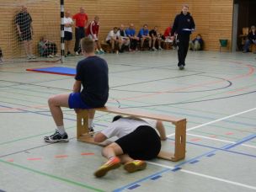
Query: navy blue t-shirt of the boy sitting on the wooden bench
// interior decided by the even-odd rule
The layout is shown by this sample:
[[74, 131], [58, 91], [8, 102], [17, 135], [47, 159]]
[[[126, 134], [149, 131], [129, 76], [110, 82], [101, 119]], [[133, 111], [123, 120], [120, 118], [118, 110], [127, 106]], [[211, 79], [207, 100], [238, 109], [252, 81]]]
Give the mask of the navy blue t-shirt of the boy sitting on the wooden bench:
[[81, 81], [81, 97], [89, 107], [103, 107], [109, 98], [109, 67], [99, 56], [88, 56], [77, 63], [77, 81]]

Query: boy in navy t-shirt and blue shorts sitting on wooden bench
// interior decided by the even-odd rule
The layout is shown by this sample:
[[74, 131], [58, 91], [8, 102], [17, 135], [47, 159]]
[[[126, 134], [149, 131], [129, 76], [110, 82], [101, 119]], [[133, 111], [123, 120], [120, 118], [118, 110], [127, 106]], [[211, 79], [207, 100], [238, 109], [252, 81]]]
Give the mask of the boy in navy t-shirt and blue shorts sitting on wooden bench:
[[[46, 142], [68, 141], [64, 129], [63, 113], [61, 107], [75, 109], [88, 109], [88, 127], [93, 131], [93, 108], [104, 107], [109, 98], [109, 68], [104, 59], [95, 56], [95, 45], [88, 37], [81, 40], [83, 56], [85, 59], [77, 63], [76, 81], [73, 85], [73, 93], [59, 94], [48, 100], [51, 115], [56, 123], [56, 132], [51, 136], [45, 136]], [[81, 87], [83, 90], [81, 91]]]

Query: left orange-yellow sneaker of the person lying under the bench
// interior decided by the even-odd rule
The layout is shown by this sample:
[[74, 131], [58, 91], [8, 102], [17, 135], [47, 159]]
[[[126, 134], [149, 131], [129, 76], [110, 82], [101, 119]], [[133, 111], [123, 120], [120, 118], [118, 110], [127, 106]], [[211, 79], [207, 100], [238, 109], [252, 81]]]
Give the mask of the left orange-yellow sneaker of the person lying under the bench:
[[121, 165], [119, 157], [113, 157], [110, 158], [109, 161], [104, 163], [95, 173], [94, 175], [97, 178], [103, 177], [106, 173], [108, 173], [110, 170], [119, 168]]

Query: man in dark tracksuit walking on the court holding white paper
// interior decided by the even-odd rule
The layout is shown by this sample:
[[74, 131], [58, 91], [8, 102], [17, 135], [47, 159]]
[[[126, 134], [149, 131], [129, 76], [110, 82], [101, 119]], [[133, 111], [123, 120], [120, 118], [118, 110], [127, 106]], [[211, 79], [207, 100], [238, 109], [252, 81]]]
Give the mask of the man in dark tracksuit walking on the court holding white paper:
[[185, 59], [189, 50], [189, 35], [195, 30], [194, 19], [188, 11], [189, 6], [184, 4], [181, 13], [179, 13], [174, 20], [171, 32], [172, 40], [174, 40], [174, 33], [177, 34], [179, 70], [184, 69]]

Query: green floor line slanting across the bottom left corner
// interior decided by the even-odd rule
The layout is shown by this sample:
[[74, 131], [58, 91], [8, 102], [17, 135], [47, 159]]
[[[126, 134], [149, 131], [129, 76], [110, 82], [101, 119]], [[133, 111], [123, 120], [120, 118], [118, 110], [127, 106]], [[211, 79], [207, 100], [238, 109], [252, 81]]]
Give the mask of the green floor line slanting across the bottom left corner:
[[0, 159], [0, 162], [1, 163], [5, 163], [5, 164], [8, 164], [8, 165], [11, 165], [13, 167], [16, 167], [16, 168], [22, 168], [24, 170], [27, 170], [27, 171], [30, 171], [30, 172], [33, 172], [33, 173], [38, 173], [40, 175], [44, 175], [46, 177], [49, 177], [49, 178], [52, 178], [52, 179], [57, 179], [57, 180], [60, 180], [60, 181], [63, 181], [67, 184], [73, 184], [73, 185], [76, 185], [76, 186], [79, 186], [79, 187], [83, 187], [85, 189], [91, 189], [93, 191], [99, 191], [99, 192], [104, 192], [103, 189], [97, 189], [97, 188], [93, 188], [91, 186], [88, 186], [86, 184], [82, 184], [82, 183], [79, 183], [79, 182], [76, 182], [76, 181], [72, 181], [72, 180], [69, 180], [69, 179], [65, 179], [65, 178], [61, 178], [61, 177], [58, 177], [56, 175], [52, 175], [52, 174], [49, 174], [49, 173], [44, 173], [44, 172], [40, 172], [38, 170], [35, 170], [33, 168], [27, 168], [23, 165], [19, 165], [19, 164], [16, 164], [16, 163], [10, 163], [10, 162], [6, 162], [6, 161], [3, 161], [2, 159]]

